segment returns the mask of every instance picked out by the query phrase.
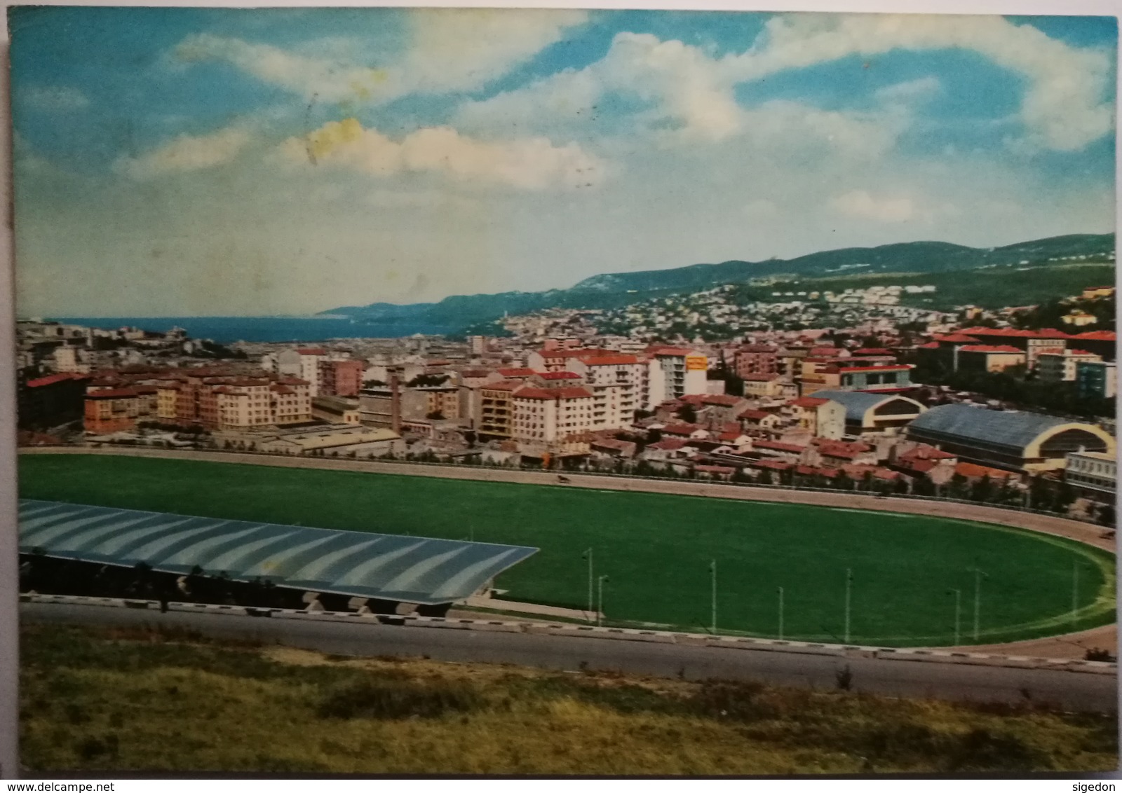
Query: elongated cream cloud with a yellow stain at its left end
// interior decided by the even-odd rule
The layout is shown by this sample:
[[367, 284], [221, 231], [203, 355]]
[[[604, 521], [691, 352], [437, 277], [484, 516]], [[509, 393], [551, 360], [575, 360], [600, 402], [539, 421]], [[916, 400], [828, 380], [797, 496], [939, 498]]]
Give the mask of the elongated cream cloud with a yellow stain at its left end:
[[482, 141], [450, 127], [420, 129], [395, 141], [355, 119], [289, 138], [279, 155], [289, 165], [337, 166], [383, 178], [434, 174], [524, 190], [592, 187], [605, 177], [605, 164], [576, 143], [554, 146], [545, 138]]

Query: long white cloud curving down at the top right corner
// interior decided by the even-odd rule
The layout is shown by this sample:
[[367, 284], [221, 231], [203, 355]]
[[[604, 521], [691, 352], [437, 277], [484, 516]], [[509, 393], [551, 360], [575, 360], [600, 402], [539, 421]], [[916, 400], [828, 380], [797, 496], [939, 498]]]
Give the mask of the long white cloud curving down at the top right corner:
[[969, 49], [1028, 80], [1021, 119], [1039, 144], [1076, 150], [1106, 134], [1111, 58], [1000, 17], [789, 15], [769, 20], [761, 43], [721, 62], [736, 82], [894, 49]]

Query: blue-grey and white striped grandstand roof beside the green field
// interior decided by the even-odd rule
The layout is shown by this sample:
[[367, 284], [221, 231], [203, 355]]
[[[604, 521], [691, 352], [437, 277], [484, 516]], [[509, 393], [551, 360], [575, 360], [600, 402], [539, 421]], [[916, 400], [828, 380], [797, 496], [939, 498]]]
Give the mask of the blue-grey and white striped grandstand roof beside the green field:
[[434, 605], [462, 600], [537, 549], [21, 498], [19, 551]]

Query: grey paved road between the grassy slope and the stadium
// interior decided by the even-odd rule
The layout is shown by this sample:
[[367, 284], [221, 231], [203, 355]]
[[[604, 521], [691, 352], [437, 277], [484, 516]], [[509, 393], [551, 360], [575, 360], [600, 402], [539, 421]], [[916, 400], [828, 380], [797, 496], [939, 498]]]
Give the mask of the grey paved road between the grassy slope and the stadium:
[[852, 690], [985, 702], [1032, 700], [1068, 710], [1118, 709], [1118, 680], [1046, 669], [1010, 669], [871, 657], [837, 657], [609, 638], [486, 633], [452, 628], [353, 625], [233, 615], [63, 604], [20, 604], [21, 619], [36, 623], [166, 624], [217, 638], [255, 640], [342, 655], [427, 655], [440, 661], [515, 663], [557, 670], [619, 670], [689, 680], [754, 679], [785, 685], [834, 689], [852, 672]]

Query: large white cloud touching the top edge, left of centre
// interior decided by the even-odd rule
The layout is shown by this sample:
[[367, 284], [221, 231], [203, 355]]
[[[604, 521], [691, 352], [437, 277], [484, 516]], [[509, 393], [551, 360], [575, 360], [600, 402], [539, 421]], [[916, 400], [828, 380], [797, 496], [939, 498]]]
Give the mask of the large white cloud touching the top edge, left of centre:
[[296, 53], [196, 34], [181, 41], [175, 55], [181, 62], [228, 63], [309, 101], [377, 104], [411, 93], [479, 88], [587, 19], [583, 11], [565, 9], [413, 9], [405, 54], [380, 67], [357, 63], [350, 39], [310, 43]]

